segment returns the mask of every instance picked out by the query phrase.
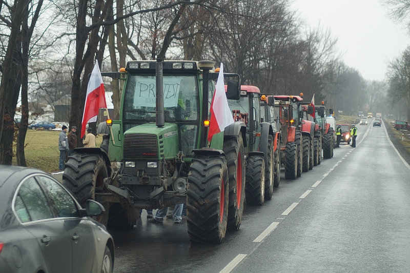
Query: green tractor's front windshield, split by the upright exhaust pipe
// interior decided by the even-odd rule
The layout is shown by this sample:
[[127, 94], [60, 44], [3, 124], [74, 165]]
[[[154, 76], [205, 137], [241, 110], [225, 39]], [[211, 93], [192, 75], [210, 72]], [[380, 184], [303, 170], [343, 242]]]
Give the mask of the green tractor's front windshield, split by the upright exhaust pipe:
[[[155, 75], [131, 74], [124, 99], [124, 120], [155, 121]], [[163, 75], [166, 122], [197, 121], [198, 87], [195, 75]]]

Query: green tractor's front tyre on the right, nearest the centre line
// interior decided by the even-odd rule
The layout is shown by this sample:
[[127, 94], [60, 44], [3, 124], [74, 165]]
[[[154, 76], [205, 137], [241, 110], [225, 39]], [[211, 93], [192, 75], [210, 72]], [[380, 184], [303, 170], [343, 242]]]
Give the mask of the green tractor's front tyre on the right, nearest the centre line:
[[229, 178], [224, 157], [193, 158], [188, 174], [187, 226], [197, 243], [221, 243], [228, 223]]

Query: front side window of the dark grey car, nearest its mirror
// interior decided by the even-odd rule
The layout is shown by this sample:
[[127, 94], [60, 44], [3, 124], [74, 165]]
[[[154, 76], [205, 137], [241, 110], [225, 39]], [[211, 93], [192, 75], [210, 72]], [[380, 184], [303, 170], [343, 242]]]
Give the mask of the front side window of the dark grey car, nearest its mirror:
[[48, 177], [37, 177], [47, 188], [50, 202], [56, 208], [58, 217], [79, 217], [73, 198], [61, 185]]

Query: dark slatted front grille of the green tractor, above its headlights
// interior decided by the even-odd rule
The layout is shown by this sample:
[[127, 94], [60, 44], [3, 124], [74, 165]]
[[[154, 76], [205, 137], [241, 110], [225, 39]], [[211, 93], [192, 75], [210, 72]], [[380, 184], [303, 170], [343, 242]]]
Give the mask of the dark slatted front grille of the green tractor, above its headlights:
[[124, 138], [125, 159], [158, 158], [158, 143], [155, 134], [134, 133]]

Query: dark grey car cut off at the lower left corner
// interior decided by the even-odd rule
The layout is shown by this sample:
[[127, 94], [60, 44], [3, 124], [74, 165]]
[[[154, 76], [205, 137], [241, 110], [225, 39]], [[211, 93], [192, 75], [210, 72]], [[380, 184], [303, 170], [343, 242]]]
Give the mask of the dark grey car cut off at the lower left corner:
[[83, 209], [47, 173], [0, 165], [0, 271], [112, 272], [114, 242], [91, 217], [104, 207]]

